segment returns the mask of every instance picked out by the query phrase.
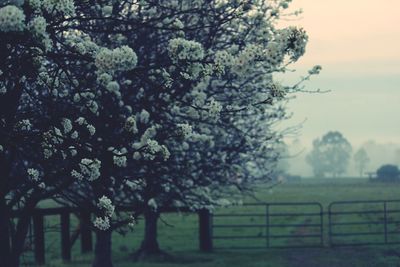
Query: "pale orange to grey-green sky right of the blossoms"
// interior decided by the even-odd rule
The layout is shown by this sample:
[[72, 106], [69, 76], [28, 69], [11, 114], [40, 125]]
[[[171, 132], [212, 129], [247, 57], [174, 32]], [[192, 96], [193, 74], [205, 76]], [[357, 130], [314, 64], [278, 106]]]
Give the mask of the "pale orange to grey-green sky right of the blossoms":
[[282, 25], [304, 27], [307, 52], [279, 79], [292, 84], [318, 64], [323, 70], [306, 90], [329, 92], [296, 95], [283, 126], [305, 121], [298, 137], [306, 147], [330, 130], [355, 147], [400, 143], [400, 0], [293, 0], [290, 10], [299, 8], [303, 14]]

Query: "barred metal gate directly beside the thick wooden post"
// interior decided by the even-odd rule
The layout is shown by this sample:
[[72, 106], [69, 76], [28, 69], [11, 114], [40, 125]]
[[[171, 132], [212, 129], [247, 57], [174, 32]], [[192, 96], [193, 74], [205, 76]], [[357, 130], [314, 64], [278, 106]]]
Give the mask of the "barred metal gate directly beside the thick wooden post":
[[323, 209], [318, 202], [252, 203], [212, 215], [215, 249], [323, 246]]

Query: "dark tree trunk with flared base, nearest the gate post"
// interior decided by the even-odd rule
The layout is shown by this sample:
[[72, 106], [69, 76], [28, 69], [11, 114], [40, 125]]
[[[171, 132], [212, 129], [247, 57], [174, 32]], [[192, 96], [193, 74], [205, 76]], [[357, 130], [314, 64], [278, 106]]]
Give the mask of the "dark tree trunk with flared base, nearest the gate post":
[[157, 221], [159, 213], [151, 208], [144, 212], [145, 228], [144, 238], [139, 253], [144, 255], [160, 254], [161, 250], [157, 242]]

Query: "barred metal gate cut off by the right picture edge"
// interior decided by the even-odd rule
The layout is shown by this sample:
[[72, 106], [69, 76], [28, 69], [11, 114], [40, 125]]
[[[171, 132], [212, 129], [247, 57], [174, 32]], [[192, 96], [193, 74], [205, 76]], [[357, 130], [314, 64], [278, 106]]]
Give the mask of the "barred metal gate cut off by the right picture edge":
[[328, 222], [331, 246], [400, 244], [400, 200], [333, 202]]

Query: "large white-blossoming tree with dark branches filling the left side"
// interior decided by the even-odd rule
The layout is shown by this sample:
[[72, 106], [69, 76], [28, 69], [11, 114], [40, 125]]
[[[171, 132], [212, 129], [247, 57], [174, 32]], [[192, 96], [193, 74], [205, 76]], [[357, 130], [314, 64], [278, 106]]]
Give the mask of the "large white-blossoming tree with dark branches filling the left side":
[[272, 74], [307, 42], [275, 27], [289, 2], [2, 1], [1, 260], [18, 266], [50, 196], [93, 210], [93, 265], [112, 266], [116, 204], [218, 205], [221, 186], [268, 171], [276, 102], [299, 89]]

